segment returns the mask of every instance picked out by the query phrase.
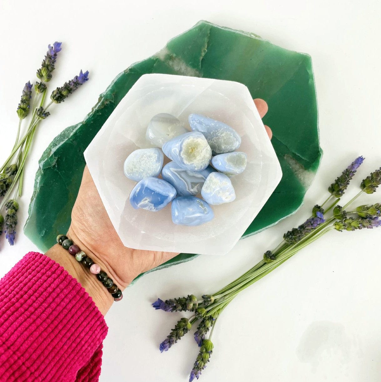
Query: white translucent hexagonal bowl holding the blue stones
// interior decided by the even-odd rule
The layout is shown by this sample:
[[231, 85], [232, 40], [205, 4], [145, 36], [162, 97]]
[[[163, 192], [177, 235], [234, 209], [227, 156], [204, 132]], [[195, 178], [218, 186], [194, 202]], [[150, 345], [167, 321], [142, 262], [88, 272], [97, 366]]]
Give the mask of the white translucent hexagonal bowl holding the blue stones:
[[[145, 139], [150, 119], [170, 113], [189, 128], [191, 113], [232, 126], [242, 138], [239, 151], [247, 167], [231, 178], [236, 200], [212, 206], [206, 224], [174, 225], [171, 207], [158, 212], [135, 210], [128, 197], [136, 182], [123, 174], [135, 149], [151, 147]], [[132, 86], [84, 152], [102, 202], [123, 244], [134, 249], [176, 253], [225, 254], [237, 243], [273, 193], [281, 167], [246, 86], [216, 79], [145, 74]], [[169, 160], [166, 158], [166, 162]]]

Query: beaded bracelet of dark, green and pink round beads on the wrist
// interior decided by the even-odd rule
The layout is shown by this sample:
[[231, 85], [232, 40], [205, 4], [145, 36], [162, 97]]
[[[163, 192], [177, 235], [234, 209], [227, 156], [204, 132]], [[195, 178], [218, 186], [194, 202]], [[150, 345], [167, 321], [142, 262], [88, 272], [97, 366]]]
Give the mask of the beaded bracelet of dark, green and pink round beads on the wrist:
[[69, 254], [75, 256], [76, 260], [82, 262], [87, 268], [90, 269], [90, 272], [97, 276], [97, 279], [107, 288], [107, 290], [113, 296], [114, 301], [120, 301], [123, 298], [122, 291], [115, 285], [113, 280], [108, 277], [107, 273], [100, 269], [98, 264], [94, 264], [92, 259], [89, 256], [86, 256], [84, 251], [79, 249], [79, 246], [73, 243], [67, 236], [58, 235], [57, 243], [60, 244], [63, 248], [69, 251]]

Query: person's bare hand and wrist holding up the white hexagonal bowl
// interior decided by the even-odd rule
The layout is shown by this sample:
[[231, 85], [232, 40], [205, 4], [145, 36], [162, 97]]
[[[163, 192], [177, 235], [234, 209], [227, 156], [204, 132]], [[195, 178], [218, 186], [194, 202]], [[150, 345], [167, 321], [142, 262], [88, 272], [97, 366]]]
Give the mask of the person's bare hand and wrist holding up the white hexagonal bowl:
[[[254, 102], [262, 118], [268, 110], [267, 104], [262, 99], [255, 99]], [[268, 126], [265, 128], [271, 138], [270, 128]], [[140, 273], [157, 267], [178, 254], [125, 247], [108, 218], [87, 166], [71, 213], [71, 225], [67, 236], [91, 257], [95, 264], [99, 264], [122, 291]], [[75, 265], [78, 267], [78, 264]], [[70, 268], [73, 270], [73, 264]], [[86, 269], [84, 269], [86, 273], [79, 272], [77, 278], [81, 279], [82, 285], [92, 296], [100, 311], [105, 314], [113, 302], [112, 296]]]

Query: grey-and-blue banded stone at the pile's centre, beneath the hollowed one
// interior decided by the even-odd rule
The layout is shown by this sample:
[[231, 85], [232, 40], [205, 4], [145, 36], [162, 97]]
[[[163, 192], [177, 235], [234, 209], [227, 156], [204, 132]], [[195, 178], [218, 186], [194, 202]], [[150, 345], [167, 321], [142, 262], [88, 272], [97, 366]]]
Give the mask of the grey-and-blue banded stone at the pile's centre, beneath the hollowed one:
[[186, 170], [175, 162], [169, 162], [161, 170], [161, 176], [176, 188], [178, 196], [196, 196], [200, 193], [205, 179], [213, 171], [216, 170], [211, 166], [205, 170], [194, 171]]

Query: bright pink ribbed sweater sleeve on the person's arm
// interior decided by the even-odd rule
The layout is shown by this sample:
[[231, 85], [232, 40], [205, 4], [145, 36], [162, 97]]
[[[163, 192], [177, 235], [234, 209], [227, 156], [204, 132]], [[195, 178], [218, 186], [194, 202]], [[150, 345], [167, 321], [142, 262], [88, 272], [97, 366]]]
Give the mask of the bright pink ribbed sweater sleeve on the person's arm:
[[97, 381], [107, 329], [75, 278], [29, 252], [0, 280], [0, 380]]

